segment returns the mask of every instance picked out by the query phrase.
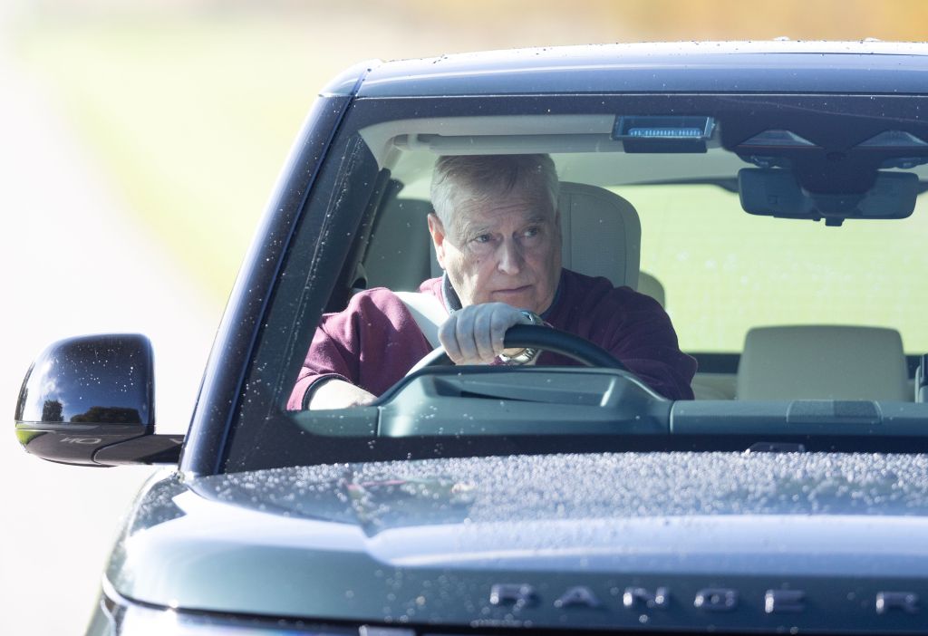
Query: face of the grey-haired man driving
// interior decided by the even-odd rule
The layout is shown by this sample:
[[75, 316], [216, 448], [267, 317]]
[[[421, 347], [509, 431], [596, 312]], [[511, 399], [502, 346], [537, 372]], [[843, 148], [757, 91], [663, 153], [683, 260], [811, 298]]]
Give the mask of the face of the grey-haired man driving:
[[489, 202], [467, 199], [448, 225], [429, 216], [438, 262], [462, 305], [548, 309], [561, 276], [560, 218], [548, 197], [511, 192]]

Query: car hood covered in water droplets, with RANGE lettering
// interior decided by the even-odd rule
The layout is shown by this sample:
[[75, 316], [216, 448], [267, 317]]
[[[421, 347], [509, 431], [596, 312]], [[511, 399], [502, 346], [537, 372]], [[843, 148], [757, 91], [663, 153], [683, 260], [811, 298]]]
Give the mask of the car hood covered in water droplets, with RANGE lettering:
[[[374, 623], [914, 629], [928, 457], [650, 452], [172, 475], [107, 579], [175, 608]], [[914, 621], [914, 622], [913, 622]]]

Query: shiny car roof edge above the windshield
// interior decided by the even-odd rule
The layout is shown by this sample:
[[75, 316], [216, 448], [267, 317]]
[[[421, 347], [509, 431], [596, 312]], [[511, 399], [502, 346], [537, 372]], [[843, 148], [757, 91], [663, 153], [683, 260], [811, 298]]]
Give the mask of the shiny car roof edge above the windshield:
[[323, 94], [923, 94], [926, 85], [926, 43], [776, 40], [558, 46], [371, 60], [345, 71]]

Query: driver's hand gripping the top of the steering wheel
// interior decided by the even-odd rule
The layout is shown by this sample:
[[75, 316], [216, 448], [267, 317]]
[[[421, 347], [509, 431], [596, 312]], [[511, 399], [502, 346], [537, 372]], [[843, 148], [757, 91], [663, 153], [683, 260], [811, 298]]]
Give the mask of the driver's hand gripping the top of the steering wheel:
[[532, 321], [505, 302], [484, 302], [452, 313], [438, 339], [455, 364], [490, 364], [504, 351], [503, 337], [513, 324]]

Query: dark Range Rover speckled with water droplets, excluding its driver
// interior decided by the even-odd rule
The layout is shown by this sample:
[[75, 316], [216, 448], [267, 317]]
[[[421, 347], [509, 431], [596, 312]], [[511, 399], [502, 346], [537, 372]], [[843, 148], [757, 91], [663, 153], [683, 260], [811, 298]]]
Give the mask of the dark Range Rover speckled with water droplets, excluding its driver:
[[[164, 468], [87, 633], [924, 630], [926, 77], [928, 45], [871, 41], [346, 70], [293, 146], [186, 436], [156, 432], [142, 335], [57, 342], [26, 375], [27, 452]], [[406, 294], [414, 328], [439, 328], [409, 304], [441, 273], [436, 159], [496, 155], [553, 159], [564, 267], [672, 319], [695, 399], [517, 324], [509, 349], [580, 364], [439, 351], [370, 403], [294, 407], [320, 320], [353, 299]]]

